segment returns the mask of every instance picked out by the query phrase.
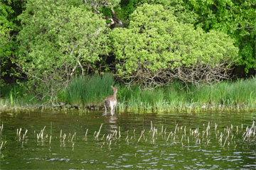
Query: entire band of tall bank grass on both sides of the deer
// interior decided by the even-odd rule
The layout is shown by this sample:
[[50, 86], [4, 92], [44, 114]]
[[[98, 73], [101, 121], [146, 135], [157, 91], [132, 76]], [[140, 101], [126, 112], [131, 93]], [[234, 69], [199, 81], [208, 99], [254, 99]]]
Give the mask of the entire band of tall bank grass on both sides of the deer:
[[[102, 109], [105, 97], [112, 94], [110, 86], [119, 86], [119, 112], [256, 111], [256, 78], [223, 81], [200, 88], [175, 81], [169, 86], [142, 90], [139, 86], [127, 89], [116, 83], [112, 75], [104, 74], [102, 77], [95, 75], [73, 79], [67, 89], [60, 91], [58, 99], [68, 108]], [[1, 88], [1, 96], [1, 108], [39, 107], [46, 102], [33, 98], [26, 89], [17, 85]]]

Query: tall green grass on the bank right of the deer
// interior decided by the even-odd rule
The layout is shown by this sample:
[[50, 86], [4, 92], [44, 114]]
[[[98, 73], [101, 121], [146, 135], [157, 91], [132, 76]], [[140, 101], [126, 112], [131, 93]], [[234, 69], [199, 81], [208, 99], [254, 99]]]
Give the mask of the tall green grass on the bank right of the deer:
[[169, 86], [142, 91], [139, 87], [119, 93], [119, 111], [252, 111], [256, 106], [256, 79], [223, 81], [213, 86], [189, 86], [175, 81]]

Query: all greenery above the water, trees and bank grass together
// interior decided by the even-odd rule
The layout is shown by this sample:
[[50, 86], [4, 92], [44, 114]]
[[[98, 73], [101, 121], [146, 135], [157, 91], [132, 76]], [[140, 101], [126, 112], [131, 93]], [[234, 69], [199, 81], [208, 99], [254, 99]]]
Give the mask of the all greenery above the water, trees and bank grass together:
[[[255, 79], [216, 85], [234, 67], [256, 71], [255, 6], [252, 0], [1, 0], [1, 102], [98, 106], [119, 84], [119, 108], [159, 110], [157, 102], [166, 110], [193, 103], [255, 108]], [[247, 97], [230, 97], [240, 90]]]

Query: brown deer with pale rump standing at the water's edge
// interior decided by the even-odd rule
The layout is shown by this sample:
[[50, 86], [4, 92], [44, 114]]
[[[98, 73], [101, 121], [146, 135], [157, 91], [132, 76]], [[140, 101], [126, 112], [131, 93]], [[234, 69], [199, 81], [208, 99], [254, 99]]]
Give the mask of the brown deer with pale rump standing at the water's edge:
[[111, 113], [111, 115], [114, 115], [114, 108], [115, 108], [115, 106], [117, 106], [117, 90], [119, 87], [111, 86], [111, 88], [113, 89], [114, 94], [107, 96], [105, 98], [105, 101], [104, 101], [105, 113], [103, 113], [103, 115], [107, 114], [107, 107], [110, 107], [110, 113]]

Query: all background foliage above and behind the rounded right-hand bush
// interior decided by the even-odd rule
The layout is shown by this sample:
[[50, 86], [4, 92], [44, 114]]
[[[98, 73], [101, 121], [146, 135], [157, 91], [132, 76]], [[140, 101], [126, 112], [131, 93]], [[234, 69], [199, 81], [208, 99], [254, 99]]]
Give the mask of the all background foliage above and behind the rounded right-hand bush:
[[218, 30], [230, 35], [240, 49], [237, 64], [245, 65], [246, 72], [256, 69], [254, 0], [132, 0], [122, 7], [122, 13], [132, 13], [144, 3], [163, 5], [174, 12], [178, 22], [191, 23], [206, 32]]

